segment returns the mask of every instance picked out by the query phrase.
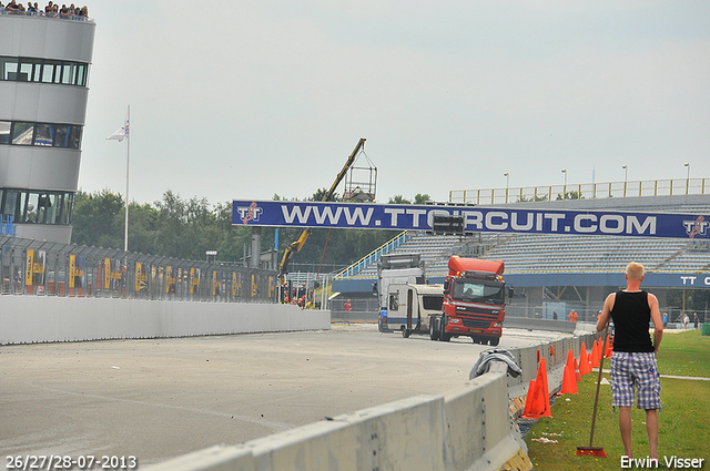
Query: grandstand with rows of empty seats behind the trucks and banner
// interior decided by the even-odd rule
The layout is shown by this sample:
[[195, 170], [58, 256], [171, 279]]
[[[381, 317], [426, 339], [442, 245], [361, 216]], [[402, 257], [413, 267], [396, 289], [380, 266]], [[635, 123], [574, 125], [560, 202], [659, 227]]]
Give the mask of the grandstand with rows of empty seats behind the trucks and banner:
[[[510, 203], [506, 207], [708, 215], [710, 195], [561, 199]], [[450, 255], [504, 260], [506, 280], [517, 288], [508, 310], [525, 317], [545, 316], [547, 304], [564, 304], [561, 309], [575, 309], [582, 319], [594, 319], [606, 295], [623, 286], [623, 269], [631, 260], [645, 265], [643, 285], [653, 288], [661, 309], [671, 313], [671, 317], [673, 309], [680, 307], [667, 305], [669, 289], [710, 288], [707, 239], [513, 233], [465, 237], [410, 233], [404, 238], [406, 240], [390, 253], [420, 254], [432, 283], [443, 280]], [[358, 294], [372, 297], [377, 268], [375, 257], [369, 256], [368, 260], [364, 267], [362, 260], [358, 262], [361, 268], [356, 275], [345, 276], [348, 270], [338, 274], [333, 290], [348, 298], [357, 299]], [[333, 308], [337, 309], [338, 303], [334, 303]]]

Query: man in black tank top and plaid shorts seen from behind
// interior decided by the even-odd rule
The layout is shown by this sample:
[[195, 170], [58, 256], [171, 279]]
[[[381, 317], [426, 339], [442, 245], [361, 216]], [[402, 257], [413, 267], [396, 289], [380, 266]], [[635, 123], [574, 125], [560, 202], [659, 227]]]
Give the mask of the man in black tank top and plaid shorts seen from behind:
[[[627, 288], [610, 294], [597, 321], [604, 330], [613, 320], [613, 354], [611, 356], [612, 406], [619, 408], [619, 430], [626, 455], [631, 458], [631, 407], [646, 410], [649, 458], [658, 460], [658, 409], [661, 407], [661, 383], [656, 355], [663, 337], [663, 322], [658, 298], [641, 290], [643, 265], [631, 262], [626, 267]], [[649, 322], [653, 321], [653, 341]], [[658, 461], [657, 461], [658, 463]]]

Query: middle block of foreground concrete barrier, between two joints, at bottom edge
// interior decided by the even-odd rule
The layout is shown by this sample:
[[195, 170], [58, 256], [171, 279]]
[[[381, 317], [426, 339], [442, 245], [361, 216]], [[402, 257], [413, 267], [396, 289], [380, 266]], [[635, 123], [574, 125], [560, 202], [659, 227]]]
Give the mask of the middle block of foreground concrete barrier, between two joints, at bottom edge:
[[444, 399], [414, 397], [245, 444], [257, 470], [437, 470]]

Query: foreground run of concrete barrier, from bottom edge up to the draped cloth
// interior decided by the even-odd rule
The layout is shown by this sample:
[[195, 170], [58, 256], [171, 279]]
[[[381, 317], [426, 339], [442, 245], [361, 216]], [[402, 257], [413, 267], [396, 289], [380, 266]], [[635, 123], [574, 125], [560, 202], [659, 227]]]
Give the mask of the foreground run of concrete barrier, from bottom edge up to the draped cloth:
[[495, 366], [444, 396], [403, 399], [146, 469], [529, 470], [527, 448], [508, 412], [505, 368]]

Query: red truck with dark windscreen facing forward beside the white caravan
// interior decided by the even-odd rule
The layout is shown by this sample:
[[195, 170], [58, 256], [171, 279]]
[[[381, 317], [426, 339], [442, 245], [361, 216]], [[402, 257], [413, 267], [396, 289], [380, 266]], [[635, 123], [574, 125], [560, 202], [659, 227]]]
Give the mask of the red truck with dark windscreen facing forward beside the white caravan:
[[513, 287], [503, 280], [504, 267], [501, 260], [450, 257], [442, 314], [432, 316], [429, 338], [449, 341], [466, 336], [475, 344], [497, 346], [506, 298], [513, 297]]

